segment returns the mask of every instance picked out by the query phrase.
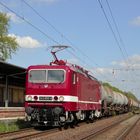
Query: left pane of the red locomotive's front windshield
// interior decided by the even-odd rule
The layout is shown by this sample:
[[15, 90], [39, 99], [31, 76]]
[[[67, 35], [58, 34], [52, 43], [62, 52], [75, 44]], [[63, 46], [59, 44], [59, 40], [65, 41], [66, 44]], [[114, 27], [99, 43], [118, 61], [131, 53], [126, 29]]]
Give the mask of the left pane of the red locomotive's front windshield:
[[46, 70], [31, 70], [29, 73], [29, 81], [33, 83], [46, 82]]

